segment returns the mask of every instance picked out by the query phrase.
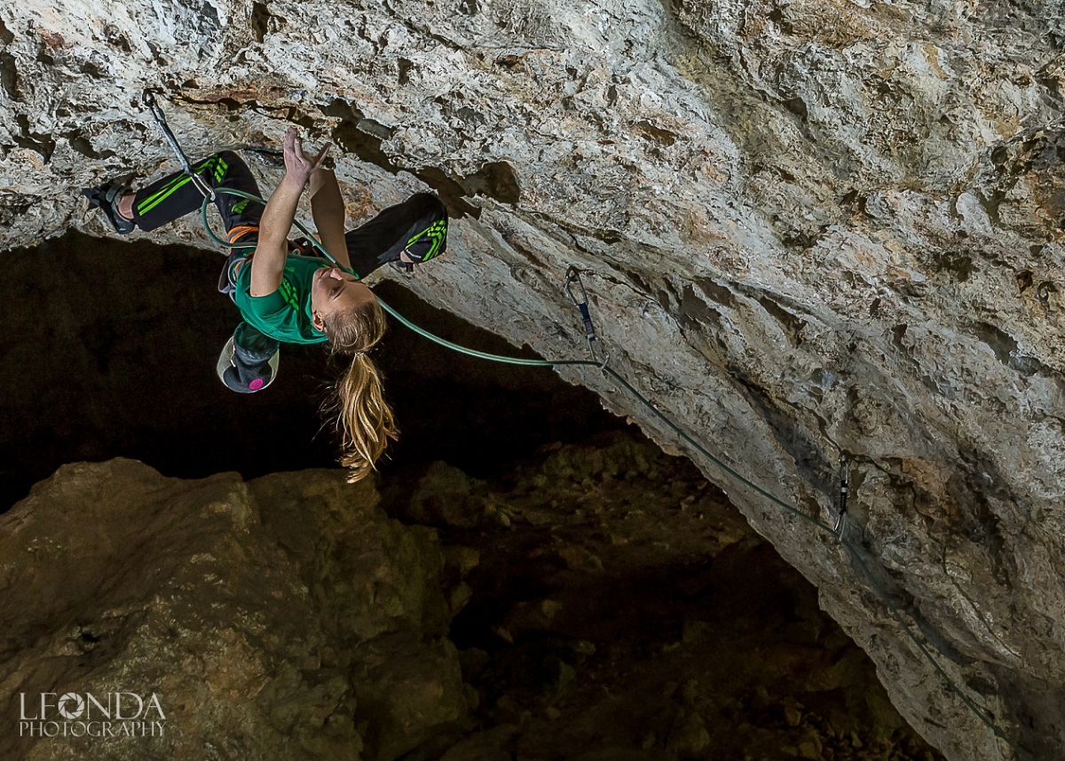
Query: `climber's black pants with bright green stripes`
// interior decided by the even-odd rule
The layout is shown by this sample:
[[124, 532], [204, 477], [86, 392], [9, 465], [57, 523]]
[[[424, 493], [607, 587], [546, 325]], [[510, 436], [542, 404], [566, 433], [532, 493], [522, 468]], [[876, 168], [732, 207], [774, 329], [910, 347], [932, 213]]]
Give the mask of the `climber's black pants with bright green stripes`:
[[[247, 164], [231, 150], [215, 153], [193, 167], [212, 188], [232, 188], [262, 195]], [[198, 211], [202, 203], [203, 196], [192, 180], [177, 172], [137, 191], [133, 200], [133, 222], [142, 230], [153, 230]], [[265, 208], [262, 204], [218, 193], [215, 206], [230, 243], [247, 244], [259, 239], [259, 221]], [[344, 238], [351, 269], [360, 277], [398, 259], [404, 253], [414, 261], [425, 261], [447, 249], [447, 210], [433, 194], [415, 193], [402, 204], [384, 209], [361, 227], [348, 230]], [[292, 248], [308, 256], [316, 254], [306, 239], [295, 241]], [[230, 258], [243, 258], [251, 250], [237, 248]], [[232, 262], [227, 262], [226, 273], [231, 265]]]

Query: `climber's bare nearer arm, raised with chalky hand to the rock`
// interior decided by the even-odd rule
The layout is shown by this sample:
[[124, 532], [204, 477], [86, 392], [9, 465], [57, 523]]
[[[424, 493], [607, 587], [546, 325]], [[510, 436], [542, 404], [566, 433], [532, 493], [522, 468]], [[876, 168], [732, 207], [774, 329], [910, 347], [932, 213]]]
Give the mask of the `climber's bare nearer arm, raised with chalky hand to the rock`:
[[316, 157], [304, 152], [295, 129], [284, 135], [284, 177], [274, 190], [259, 221], [259, 244], [251, 257], [252, 296], [267, 296], [281, 285], [284, 260], [289, 255], [289, 232], [296, 217], [296, 205], [307, 180], [329, 150], [327, 144]]

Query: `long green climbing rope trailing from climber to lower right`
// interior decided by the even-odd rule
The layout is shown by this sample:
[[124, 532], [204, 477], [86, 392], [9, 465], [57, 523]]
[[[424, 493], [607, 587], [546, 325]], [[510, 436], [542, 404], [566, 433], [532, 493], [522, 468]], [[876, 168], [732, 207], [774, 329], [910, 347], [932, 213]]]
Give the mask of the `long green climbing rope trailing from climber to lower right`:
[[[236, 196], [240, 196], [242, 198], [247, 198], [249, 200], [258, 201], [260, 204], [264, 203], [263, 199], [260, 198], [259, 196], [252, 195], [250, 193], [245, 193], [244, 191], [232, 190], [232, 189], [229, 189], [229, 188], [216, 188], [216, 189], [214, 189], [214, 192], [215, 193], [225, 193], [225, 194], [228, 194], [228, 195], [236, 195]], [[217, 244], [219, 244], [219, 245], [222, 245], [222, 246], [224, 246], [226, 248], [255, 248], [256, 245], [257, 245], [255, 243], [242, 244], [242, 245], [233, 245], [233, 244], [229, 243], [228, 241], [224, 241], [223, 239], [218, 238], [214, 233], [214, 231], [211, 229], [211, 225], [210, 225], [210, 223], [208, 222], [208, 218], [207, 218], [207, 209], [208, 209], [208, 205], [209, 205], [210, 201], [211, 201], [211, 197], [204, 197], [203, 198], [203, 204], [200, 207], [200, 216], [201, 216], [202, 222], [203, 222], [203, 228], [207, 230], [207, 233], [211, 237], [211, 239], [215, 243], [217, 243]], [[314, 238], [314, 236], [311, 233], [311, 231], [308, 230], [302, 224], [300, 224], [298, 221], [294, 221], [293, 224], [299, 229], [300, 232], [302, 232], [305, 236], [307, 236], [307, 240], [309, 240], [314, 245], [314, 247], [317, 248], [318, 252], [322, 253], [322, 255], [326, 259], [328, 259], [329, 261], [331, 261], [333, 264], [335, 264], [337, 266], [341, 268], [342, 270], [346, 270], [347, 272], [357, 275], [357, 273], [355, 273], [351, 270], [351, 268], [342, 265], [332, 256], [330, 256], [329, 252], [327, 252], [325, 249], [325, 247]], [[465, 355], [469, 355], [471, 357], [477, 357], [479, 359], [488, 359], [488, 360], [493, 361], [493, 362], [505, 362], [505, 363], [508, 363], [508, 365], [525, 365], [525, 366], [530, 366], [530, 367], [545, 367], [545, 368], [548, 368], [548, 367], [550, 368], [555, 368], [555, 367], [593, 367], [593, 368], [599, 368], [600, 370], [603, 371], [604, 374], [609, 375], [610, 377], [612, 377], [621, 386], [623, 386], [630, 394], [633, 394], [633, 396], [635, 396], [637, 400], [639, 400], [639, 402], [641, 404], [643, 404], [644, 407], [646, 407], [649, 410], [651, 410], [651, 412], [653, 412], [655, 415], [655, 417], [657, 417], [666, 425], [668, 425], [677, 436], [679, 436], [682, 439], [684, 439], [684, 441], [686, 441], [688, 444], [690, 444], [692, 448], [694, 448], [695, 451], [698, 451], [700, 454], [702, 454], [708, 460], [710, 460], [711, 463], [714, 463], [714, 465], [716, 465], [719, 469], [721, 469], [722, 471], [724, 471], [725, 473], [727, 473], [733, 479], [735, 479], [739, 483], [743, 484], [744, 486], [747, 486], [751, 490], [753, 490], [756, 493], [760, 495], [761, 497], [766, 498], [767, 500], [769, 500], [773, 504], [775, 504], [775, 505], [777, 505], [780, 507], [783, 507], [788, 513], [791, 513], [792, 515], [796, 515], [799, 518], [802, 518], [803, 520], [805, 520], [808, 523], [812, 523], [813, 525], [817, 527], [818, 529], [821, 529], [822, 531], [825, 531], [829, 534], [831, 534], [833, 538], [835, 538], [840, 545], [842, 545], [842, 547], [845, 547], [847, 549], [847, 551], [850, 553], [851, 557], [854, 560], [854, 562], [857, 564], [857, 566], [862, 569], [863, 573], [865, 574], [866, 579], [869, 582], [869, 585], [872, 587], [872, 589], [876, 593], [876, 596], [881, 599], [881, 601], [884, 603], [884, 605], [890, 612], [891, 617], [895, 618], [896, 622], [900, 627], [902, 627], [902, 630], [906, 633], [906, 636], [910, 637], [910, 639], [917, 646], [917, 648], [921, 651], [921, 653], [924, 654], [924, 658], [928, 659], [929, 663], [932, 664], [932, 667], [936, 670], [936, 673], [938, 673], [939, 676], [944, 679], [944, 681], [947, 682], [947, 685], [950, 687], [950, 691], [952, 693], [954, 693], [955, 695], [957, 695], [958, 698], [961, 698], [962, 702], [965, 703], [965, 706], [977, 716], [977, 718], [979, 718], [984, 724], [984, 726], [986, 726], [989, 730], [992, 730], [992, 732], [995, 734], [995, 736], [997, 736], [999, 740], [1002, 740], [1003, 742], [1005, 742], [1010, 747], [1012, 747], [1017, 752], [1017, 755], [1020, 758], [1026, 759], [1026, 760], [1030, 759], [1030, 760], [1034, 761], [1034, 758], [1035, 758], [1034, 756], [1032, 756], [1025, 748], [1022, 748], [1019, 745], [1017, 745], [1017, 743], [1015, 743], [1007, 734], [1005, 734], [1005, 732], [998, 726], [998, 724], [995, 723], [995, 720], [990, 716], [990, 714], [988, 714], [983, 708], [977, 706], [977, 703], [966, 693], [964, 693], [961, 687], [957, 686], [957, 684], [954, 682], [954, 680], [950, 678], [950, 676], [947, 674], [947, 671], [939, 664], [939, 661], [935, 658], [935, 655], [933, 655], [932, 652], [924, 646], [924, 644], [917, 637], [917, 635], [914, 633], [914, 631], [910, 627], [910, 625], [906, 624], [905, 620], [903, 620], [902, 614], [900, 613], [898, 606], [895, 603], [891, 602], [890, 595], [880, 584], [880, 582], [876, 580], [875, 574], [872, 572], [872, 569], [869, 568], [868, 564], [862, 557], [858, 549], [856, 547], [854, 547], [854, 545], [852, 545], [849, 539], [843, 538], [841, 536], [841, 534], [837, 534], [835, 532], [835, 530], [833, 530], [833, 528], [831, 525], [829, 525], [828, 523], [825, 523], [824, 521], [819, 520], [819, 519], [815, 518], [814, 516], [807, 515], [806, 513], [804, 513], [803, 511], [799, 509], [798, 507], [788, 504], [787, 502], [781, 500], [780, 498], [775, 497], [774, 495], [770, 493], [769, 491], [766, 491], [764, 488], [761, 488], [760, 486], [758, 486], [757, 484], [755, 484], [754, 482], [752, 482], [751, 480], [749, 480], [747, 476], [742, 475], [738, 471], [736, 471], [733, 468], [731, 468], [730, 466], [725, 465], [717, 456], [715, 456], [714, 454], [711, 454], [705, 447], [703, 447], [701, 443], [699, 443], [699, 441], [697, 441], [694, 438], [692, 438], [691, 436], [689, 436], [687, 432], [685, 432], [684, 430], [681, 428], [681, 426], [678, 426], [670, 418], [668, 418], [661, 410], [658, 409], [658, 407], [656, 407], [654, 405], [654, 403], [651, 400], [649, 400], [646, 396], [644, 396], [642, 393], [640, 393], [630, 383], [628, 383], [628, 380], [626, 380], [625, 378], [623, 378], [613, 368], [608, 367], [606, 362], [595, 362], [595, 361], [591, 361], [591, 360], [587, 360], [587, 359], [521, 359], [521, 358], [518, 358], [518, 357], [506, 357], [506, 356], [498, 355], [498, 354], [489, 354], [487, 352], [478, 352], [478, 351], [473, 350], [473, 349], [468, 349], [466, 346], [461, 346], [461, 345], [459, 345], [457, 343], [452, 343], [450, 341], [446, 341], [446, 340], [440, 338], [439, 336], [429, 333], [425, 328], [422, 328], [422, 327], [415, 325], [410, 320], [408, 320], [404, 315], [399, 314], [396, 310], [394, 310], [388, 304], [386, 304], [384, 302], [382, 302], [380, 298], [378, 298], [377, 301], [380, 303], [381, 307], [389, 314], [391, 314], [392, 317], [394, 317], [396, 320], [398, 320], [400, 323], [403, 323], [404, 325], [406, 325], [408, 328], [410, 328], [414, 333], [416, 333], [420, 336], [423, 336], [423, 337], [429, 339], [430, 341], [432, 341], [435, 343], [440, 344], [441, 346], [444, 346], [445, 349], [449, 349], [449, 350], [452, 350], [454, 352], [459, 352], [460, 354], [465, 354]]]

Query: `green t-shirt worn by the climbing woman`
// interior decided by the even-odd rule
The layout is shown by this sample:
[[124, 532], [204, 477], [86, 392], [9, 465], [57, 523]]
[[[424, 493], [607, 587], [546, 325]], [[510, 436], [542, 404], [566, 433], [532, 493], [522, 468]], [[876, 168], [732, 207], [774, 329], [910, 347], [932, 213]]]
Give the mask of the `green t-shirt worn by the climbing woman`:
[[233, 295], [244, 321], [282, 343], [322, 343], [326, 335], [311, 322], [311, 282], [315, 271], [329, 266], [325, 259], [290, 255], [276, 291], [252, 296], [251, 262], [236, 273]]

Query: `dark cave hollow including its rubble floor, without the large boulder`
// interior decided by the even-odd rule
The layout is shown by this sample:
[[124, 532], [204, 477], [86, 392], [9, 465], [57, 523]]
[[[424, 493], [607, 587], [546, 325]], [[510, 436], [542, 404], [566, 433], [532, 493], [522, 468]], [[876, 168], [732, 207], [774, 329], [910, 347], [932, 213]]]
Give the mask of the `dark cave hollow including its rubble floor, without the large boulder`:
[[[239, 319], [215, 291], [218, 254], [70, 232], [7, 262], [0, 512], [76, 460], [132, 457], [178, 477], [335, 467], [318, 407], [337, 370], [321, 347], [283, 346], [265, 392], [218, 382]], [[375, 289], [449, 340], [534, 356], [397, 284]], [[464, 727], [409, 761], [457, 742], [474, 743], [469, 758], [501, 759], [607, 746], [662, 759], [807, 746], [823, 758], [938, 758], [816, 589], [691, 463], [590, 391], [394, 324], [375, 361], [402, 431], [379, 463], [386, 508], [480, 556], [450, 638], [477, 695], [476, 738], [495, 744], [477, 750]], [[458, 493], [494, 517], [456, 522], [412, 489], [430, 503]]]

